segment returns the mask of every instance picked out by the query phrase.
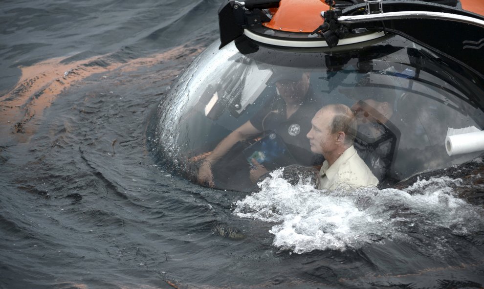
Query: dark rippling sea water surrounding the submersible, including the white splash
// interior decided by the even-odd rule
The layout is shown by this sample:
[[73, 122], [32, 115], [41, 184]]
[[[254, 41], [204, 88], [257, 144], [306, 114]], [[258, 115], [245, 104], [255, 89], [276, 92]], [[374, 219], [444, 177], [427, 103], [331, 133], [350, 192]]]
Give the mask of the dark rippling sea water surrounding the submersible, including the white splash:
[[484, 210], [452, 176], [256, 199], [156, 159], [147, 128], [221, 2], [1, 1], [0, 288], [482, 288]]

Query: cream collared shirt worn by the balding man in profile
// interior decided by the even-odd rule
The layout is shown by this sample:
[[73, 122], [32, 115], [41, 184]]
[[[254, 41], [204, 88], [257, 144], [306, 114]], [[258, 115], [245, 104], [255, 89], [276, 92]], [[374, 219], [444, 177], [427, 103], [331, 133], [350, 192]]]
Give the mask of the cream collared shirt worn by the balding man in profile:
[[331, 166], [325, 160], [319, 173], [320, 189], [334, 190], [342, 183], [350, 185], [353, 189], [378, 184], [378, 179], [358, 156], [353, 146], [346, 149]]

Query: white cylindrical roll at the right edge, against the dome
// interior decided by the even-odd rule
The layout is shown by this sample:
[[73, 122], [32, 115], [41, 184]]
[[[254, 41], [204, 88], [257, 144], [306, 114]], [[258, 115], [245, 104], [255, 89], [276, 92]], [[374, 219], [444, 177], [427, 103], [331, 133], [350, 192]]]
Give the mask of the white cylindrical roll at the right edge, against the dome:
[[449, 135], [445, 149], [449, 156], [484, 151], [484, 131]]

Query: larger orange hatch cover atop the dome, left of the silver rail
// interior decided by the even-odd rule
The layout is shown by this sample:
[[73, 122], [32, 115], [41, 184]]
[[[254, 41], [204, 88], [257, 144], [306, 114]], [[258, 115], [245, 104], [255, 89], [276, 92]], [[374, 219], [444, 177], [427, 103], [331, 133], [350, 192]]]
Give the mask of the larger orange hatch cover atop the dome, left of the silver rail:
[[273, 13], [270, 22], [265, 22], [264, 26], [287, 32], [311, 33], [324, 20], [321, 11], [326, 11], [330, 6], [324, 0], [281, 0], [279, 8], [270, 9]]

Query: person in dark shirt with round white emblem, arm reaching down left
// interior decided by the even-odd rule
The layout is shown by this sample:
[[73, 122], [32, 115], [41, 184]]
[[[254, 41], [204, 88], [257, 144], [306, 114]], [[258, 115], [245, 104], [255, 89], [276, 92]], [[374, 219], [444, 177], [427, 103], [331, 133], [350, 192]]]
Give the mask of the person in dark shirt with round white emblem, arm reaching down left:
[[[273, 79], [277, 95], [269, 99], [264, 107], [249, 121], [227, 135], [215, 149], [200, 164], [197, 180], [203, 185], [214, 187], [213, 167], [220, 162], [227, 153], [239, 142], [254, 137], [280, 138], [285, 145], [287, 156], [293, 159], [278, 164], [312, 165], [317, 157], [310, 152], [306, 134], [309, 132], [311, 118], [321, 108], [309, 87], [310, 74], [308, 72], [281, 73]], [[257, 156], [249, 154], [245, 160], [248, 174], [252, 182], [268, 172], [265, 164], [258, 161]], [[249, 166], [248, 161], [251, 162]], [[240, 161], [236, 166], [243, 166]], [[227, 171], [227, 170], [225, 170]], [[225, 172], [227, 173], [227, 172]], [[220, 179], [217, 177], [217, 179]], [[228, 182], [236, 181], [225, 180]]]

